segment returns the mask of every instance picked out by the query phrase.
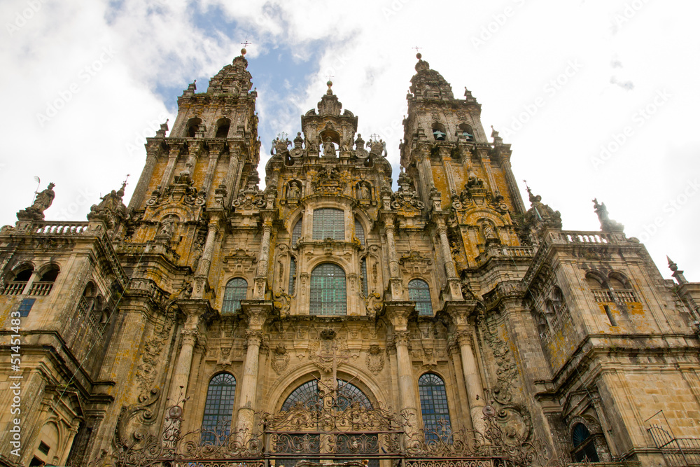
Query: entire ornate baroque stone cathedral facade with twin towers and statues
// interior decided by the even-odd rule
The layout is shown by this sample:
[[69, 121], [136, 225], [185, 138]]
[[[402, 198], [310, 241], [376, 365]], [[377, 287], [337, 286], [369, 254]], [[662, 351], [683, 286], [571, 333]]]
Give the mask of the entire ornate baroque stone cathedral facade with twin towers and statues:
[[241, 55], [146, 141], [128, 207], [52, 222], [49, 186], [20, 210], [0, 462], [700, 463], [700, 284], [597, 200], [595, 232], [526, 206], [475, 97], [418, 58], [398, 174], [329, 81], [260, 190]]

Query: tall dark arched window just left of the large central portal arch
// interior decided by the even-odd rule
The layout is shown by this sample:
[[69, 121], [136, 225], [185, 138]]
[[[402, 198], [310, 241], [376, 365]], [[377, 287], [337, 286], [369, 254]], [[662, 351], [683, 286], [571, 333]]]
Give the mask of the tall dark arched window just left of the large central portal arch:
[[202, 442], [219, 444], [231, 430], [236, 378], [230, 373], [219, 373], [211, 378], [202, 418]]

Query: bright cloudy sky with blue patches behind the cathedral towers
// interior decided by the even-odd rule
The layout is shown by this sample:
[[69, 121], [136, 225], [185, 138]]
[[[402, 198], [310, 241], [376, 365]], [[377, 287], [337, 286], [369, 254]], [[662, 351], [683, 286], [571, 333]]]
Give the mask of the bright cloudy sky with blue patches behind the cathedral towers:
[[34, 176], [56, 183], [48, 219], [85, 220], [127, 174], [130, 197], [145, 138], [246, 40], [261, 169], [330, 75], [397, 174], [419, 47], [482, 104], [565, 229], [598, 230], [597, 197], [664, 277], [668, 254], [700, 281], [699, 16], [693, 0], [3, 0], [0, 223], [31, 203]]

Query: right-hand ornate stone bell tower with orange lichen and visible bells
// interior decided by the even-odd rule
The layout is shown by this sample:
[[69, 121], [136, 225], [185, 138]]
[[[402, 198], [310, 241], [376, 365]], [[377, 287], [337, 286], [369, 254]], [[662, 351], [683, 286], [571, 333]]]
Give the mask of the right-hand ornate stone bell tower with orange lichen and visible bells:
[[[421, 54], [416, 57], [401, 164], [416, 179], [423, 202], [430, 204], [439, 193], [442, 208], [454, 209], [450, 245], [460, 249], [460, 272], [477, 265], [490, 245], [519, 245], [510, 213], [524, 214], [525, 207], [510, 168], [510, 145], [496, 131], [489, 144], [481, 105], [466, 88], [464, 99], [455, 99], [449, 83]], [[440, 225], [447, 218], [435, 221]]]

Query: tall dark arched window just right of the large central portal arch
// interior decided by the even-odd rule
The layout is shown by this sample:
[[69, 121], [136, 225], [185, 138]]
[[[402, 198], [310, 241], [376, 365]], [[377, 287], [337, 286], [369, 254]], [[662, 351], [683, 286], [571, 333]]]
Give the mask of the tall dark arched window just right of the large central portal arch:
[[435, 373], [426, 373], [418, 380], [418, 393], [426, 440], [444, 439], [451, 431], [444, 381]]

